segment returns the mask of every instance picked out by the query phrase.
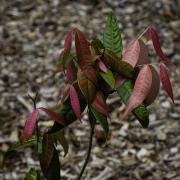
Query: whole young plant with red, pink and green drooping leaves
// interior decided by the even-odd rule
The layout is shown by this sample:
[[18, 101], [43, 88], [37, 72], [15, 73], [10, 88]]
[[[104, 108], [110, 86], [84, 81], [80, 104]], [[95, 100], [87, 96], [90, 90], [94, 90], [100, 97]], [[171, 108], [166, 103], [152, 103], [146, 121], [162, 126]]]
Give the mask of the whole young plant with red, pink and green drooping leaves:
[[[64, 129], [77, 119], [81, 121], [81, 114], [86, 108], [91, 131], [87, 158], [78, 179], [81, 179], [88, 163], [93, 132], [97, 123], [102, 126], [105, 137], [108, 137], [110, 115], [106, 99], [111, 93], [117, 92], [126, 105], [119, 121], [127, 118], [132, 112], [143, 128], [149, 125], [147, 106], [156, 99], [160, 81], [174, 101], [167, 74], [167, 69], [173, 70], [173, 65], [162, 52], [153, 26], [147, 27], [137, 39], [128, 44], [122, 53], [121, 32], [116, 17], [110, 14], [102, 39], [102, 42], [97, 38], [89, 42], [85, 35], [76, 28], [67, 33], [64, 50], [59, 56], [57, 67], [57, 71], [64, 72], [67, 79], [67, 85], [61, 98], [58, 99], [60, 103], [53, 110], [37, 108], [36, 100], [31, 97], [34, 110], [26, 120], [22, 141], [10, 149], [17, 150], [37, 142], [41, 170], [43, 176], [48, 180], [61, 178], [56, 146], [60, 143], [64, 149], [64, 155], [67, 154], [68, 143], [64, 136]], [[149, 61], [146, 43], [150, 40], [160, 58], [158, 63]], [[75, 49], [72, 49], [72, 43]], [[37, 122], [41, 111], [54, 120], [54, 125], [46, 132], [41, 132], [38, 128]], [[34, 136], [35, 130], [36, 135]], [[31, 169], [26, 178], [32, 176], [31, 172], [36, 175], [36, 179], [40, 176], [36, 170]]]

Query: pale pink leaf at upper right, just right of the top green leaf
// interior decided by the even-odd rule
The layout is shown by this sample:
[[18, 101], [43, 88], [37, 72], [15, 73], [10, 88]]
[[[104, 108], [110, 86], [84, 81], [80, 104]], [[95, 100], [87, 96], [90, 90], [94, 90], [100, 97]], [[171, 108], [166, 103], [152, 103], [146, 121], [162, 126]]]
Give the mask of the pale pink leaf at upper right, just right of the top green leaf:
[[132, 67], [135, 67], [140, 54], [140, 45], [139, 41], [132, 41], [129, 43], [128, 47], [126, 48], [124, 54], [123, 54], [123, 61], [128, 62], [132, 65]]

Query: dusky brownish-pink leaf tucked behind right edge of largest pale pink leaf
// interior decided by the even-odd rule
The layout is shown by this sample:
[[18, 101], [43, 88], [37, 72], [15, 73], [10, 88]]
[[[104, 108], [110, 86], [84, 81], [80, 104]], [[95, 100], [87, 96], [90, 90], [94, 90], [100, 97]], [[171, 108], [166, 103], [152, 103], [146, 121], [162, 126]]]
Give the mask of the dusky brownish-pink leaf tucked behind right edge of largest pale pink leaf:
[[146, 106], [149, 106], [154, 102], [154, 100], [158, 96], [159, 88], [160, 88], [159, 74], [157, 73], [156, 69], [153, 66], [150, 65], [149, 67], [151, 68], [151, 73], [152, 73], [152, 84], [151, 84], [151, 90], [144, 101], [144, 104]]

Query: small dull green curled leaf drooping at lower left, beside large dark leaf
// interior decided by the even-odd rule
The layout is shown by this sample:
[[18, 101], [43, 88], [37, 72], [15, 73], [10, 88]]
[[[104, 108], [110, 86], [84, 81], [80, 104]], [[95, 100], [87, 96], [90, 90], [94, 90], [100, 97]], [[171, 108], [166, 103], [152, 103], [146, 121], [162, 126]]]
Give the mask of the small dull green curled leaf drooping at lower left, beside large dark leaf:
[[56, 142], [56, 144], [58, 144], [58, 142], [61, 144], [61, 146], [64, 150], [64, 157], [65, 157], [68, 153], [69, 144], [65, 137], [64, 130], [62, 129], [56, 133], [53, 133], [53, 137], [54, 137], [54, 141]]

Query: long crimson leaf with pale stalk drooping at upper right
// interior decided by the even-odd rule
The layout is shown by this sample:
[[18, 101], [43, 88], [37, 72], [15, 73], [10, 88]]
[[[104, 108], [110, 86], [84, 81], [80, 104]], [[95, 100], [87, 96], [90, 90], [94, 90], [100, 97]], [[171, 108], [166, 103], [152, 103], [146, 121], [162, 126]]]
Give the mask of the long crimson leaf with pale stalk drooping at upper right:
[[146, 38], [146, 41], [152, 40], [154, 49], [157, 53], [157, 55], [160, 57], [161, 61], [167, 66], [172, 67], [173, 65], [170, 63], [170, 61], [166, 58], [164, 55], [161, 45], [159, 42], [158, 34], [155, 30], [155, 28], [151, 25], [146, 28], [146, 30], [140, 35], [140, 39], [143, 40], [143, 38]]

